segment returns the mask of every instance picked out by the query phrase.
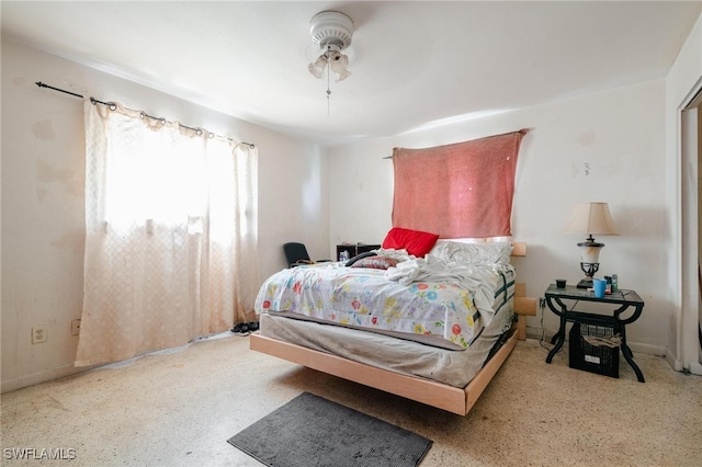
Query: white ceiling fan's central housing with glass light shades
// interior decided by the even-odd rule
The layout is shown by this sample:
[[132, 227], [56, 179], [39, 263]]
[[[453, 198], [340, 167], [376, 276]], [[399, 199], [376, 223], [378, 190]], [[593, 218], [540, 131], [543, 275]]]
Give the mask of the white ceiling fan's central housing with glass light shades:
[[322, 11], [309, 22], [312, 42], [321, 49], [321, 55], [307, 66], [315, 78], [324, 78], [325, 70], [337, 76], [337, 82], [351, 75], [349, 57], [341, 50], [351, 45], [353, 21], [339, 11]]

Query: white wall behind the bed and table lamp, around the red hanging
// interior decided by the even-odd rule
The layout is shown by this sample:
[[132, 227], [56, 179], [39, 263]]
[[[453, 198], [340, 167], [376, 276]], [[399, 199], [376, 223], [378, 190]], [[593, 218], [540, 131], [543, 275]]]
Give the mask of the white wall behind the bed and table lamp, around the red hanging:
[[[598, 238], [605, 244], [600, 275], [619, 274], [623, 288], [644, 298], [629, 339], [634, 350], [663, 354], [671, 307], [663, 80], [335, 148], [331, 242], [383, 240], [393, 196], [393, 162], [383, 157], [393, 147], [431, 147], [520, 128], [530, 133], [518, 161], [512, 228], [513, 238], [528, 243], [526, 258], [516, 264], [529, 295], [543, 297], [556, 277], [574, 283], [582, 276], [576, 243], [585, 237], [561, 230], [575, 203], [608, 202], [621, 236]], [[421, 180], [416, 183], [421, 190]], [[541, 334], [540, 318], [528, 320], [532, 335]], [[544, 327], [548, 335], [557, 330], [555, 315], [546, 311]]]

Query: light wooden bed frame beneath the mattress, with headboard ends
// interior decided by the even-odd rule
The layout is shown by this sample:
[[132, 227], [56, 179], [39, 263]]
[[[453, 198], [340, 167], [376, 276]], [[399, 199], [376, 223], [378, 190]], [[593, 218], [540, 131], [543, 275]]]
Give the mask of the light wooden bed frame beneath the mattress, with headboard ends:
[[[526, 254], [525, 243], [512, 243], [512, 257]], [[500, 350], [485, 364], [465, 388], [456, 388], [430, 379], [400, 375], [387, 369], [376, 368], [353, 362], [337, 355], [307, 349], [301, 345], [251, 334], [251, 350], [297, 363], [308, 368], [328, 373], [340, 378], [360, 383], [449, 412], [466, 415], [488, 383], [511, 353], [519, 339], [526, 339], [526, 316], [536, 315], [536, 299], [525, 296], [526, 286], [518, 283], [514, 288], [514, 312], [518, 321], [511, 335]]]

